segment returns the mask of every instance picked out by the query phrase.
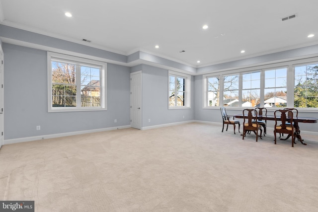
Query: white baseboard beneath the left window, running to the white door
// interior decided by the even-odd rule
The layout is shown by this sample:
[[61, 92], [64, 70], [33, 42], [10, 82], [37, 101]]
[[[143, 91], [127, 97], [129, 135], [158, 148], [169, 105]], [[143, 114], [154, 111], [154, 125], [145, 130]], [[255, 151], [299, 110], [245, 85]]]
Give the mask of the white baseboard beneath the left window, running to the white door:
[[131, 128], [131, 126], [126, 125], [126, 126], [102, 128], [102, 129], [95, 129], [95, 130], [84, 130], [84, 131], [77, 131], [77, 132], [70, 132], [70, 133], [59, 133], [59, 134], [51, 134], [51, 135], [43, 135], [43, 136], [18, 138], [18, 139], [8, 139], [8, 140], [4, 140], [3, 144], [20, 143], [20, 142], [27, 142], [27, 141], [38, 141], [43, 139], [54, 139], [54, 138], [60, 138], [60, 137], [66, 137], [66, 136], [75, 136], [75, 135], [81, 135], [81, 134], [87, 134], [87, 133], [97, 133], [97, 132], [119, 130], [119, 129], [125, 129], [125, 128]]

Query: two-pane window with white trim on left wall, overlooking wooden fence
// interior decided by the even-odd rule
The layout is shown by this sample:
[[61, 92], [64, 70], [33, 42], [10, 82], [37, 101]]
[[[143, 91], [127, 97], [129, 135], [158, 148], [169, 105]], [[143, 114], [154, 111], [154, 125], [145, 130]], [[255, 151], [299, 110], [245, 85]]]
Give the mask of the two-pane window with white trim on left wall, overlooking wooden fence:
[[48, 52], [49, 112], [106, 110], [106, 64]]

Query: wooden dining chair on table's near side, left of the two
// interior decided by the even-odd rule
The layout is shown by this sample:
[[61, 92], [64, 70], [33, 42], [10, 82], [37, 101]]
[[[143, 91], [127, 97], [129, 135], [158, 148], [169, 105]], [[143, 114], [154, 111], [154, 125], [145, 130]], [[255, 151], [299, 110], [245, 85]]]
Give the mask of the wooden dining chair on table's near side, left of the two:
[[246, 136], [246, 132], [252, 131], [256, 135], [256, 142], [257, 142], [258, 130], [260, 131], [260, 139], [262, 139], [262, 126], [258, 124], [258, 121], [257, 121], [257, 110], [244, 109], [243, 117], [244, 117], [244, 121], [243, 121], [243, 138], [242, 139], [244, 140], [244, 137]]

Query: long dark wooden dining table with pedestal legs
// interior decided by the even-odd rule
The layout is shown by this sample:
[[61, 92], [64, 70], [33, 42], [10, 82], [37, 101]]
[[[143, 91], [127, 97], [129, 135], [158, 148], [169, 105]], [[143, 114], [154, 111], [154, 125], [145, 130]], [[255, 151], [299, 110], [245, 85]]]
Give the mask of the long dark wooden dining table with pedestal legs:
[[[244, 116], [243, 114], [238, 114], [238, 115], [234, 115], [235, 118], [238, 119], [243, 119]], [[245, 118], [247, 118], [247, 116], [245, 116]], [[273, 115], [267, 115], [267, 116], [257, 116], [257, 119], [262, 119], [262, 120], [270, 120], [270, 121], [275, 121], [275, 116]], [[280, 117], [277, 117], [277, 120], [280, 121]], [[287, 118], [288, 121], [288, 118]], [[300, 128], [299, 128], [299, 124], [298, 123], [317, 123], [318, 122], [318, 118], [308, 118], [308, 117], [294, 117], [293, 118], [293, 122], [294, 122], [294, 128], [295, 128], [295, 137], [298, 139], [298, 141], [300, 141], [302, 144], [307, 145], [307, 143], [304, 142], [304, 140], [302, 139], [302, 136], [300, 135]], [[290, 137], [290, 135], [288, 135], [288, 137], [286, 139], [281, 139], [281, 140], [287, 140]]]

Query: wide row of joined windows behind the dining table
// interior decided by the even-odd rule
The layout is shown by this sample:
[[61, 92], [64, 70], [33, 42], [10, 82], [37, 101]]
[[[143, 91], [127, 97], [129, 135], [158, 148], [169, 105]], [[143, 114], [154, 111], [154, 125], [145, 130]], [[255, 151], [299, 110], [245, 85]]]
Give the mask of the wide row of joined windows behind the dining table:
[[295, 107], [315, 111], [317, 60], [318, 57], [204, 74], [203, 107]]

